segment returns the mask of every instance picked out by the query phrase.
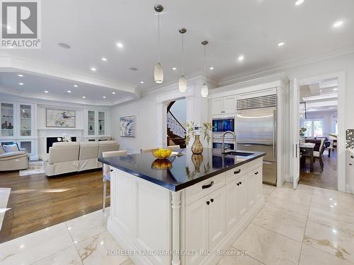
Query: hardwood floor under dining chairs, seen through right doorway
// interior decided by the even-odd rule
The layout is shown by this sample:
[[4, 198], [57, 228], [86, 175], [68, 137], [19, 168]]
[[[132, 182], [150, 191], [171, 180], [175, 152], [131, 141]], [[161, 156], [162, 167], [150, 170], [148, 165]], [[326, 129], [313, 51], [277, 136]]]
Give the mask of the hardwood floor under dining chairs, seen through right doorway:
[[304, 165], [300, 165], [300, 182], [314, 187], [321, 187], [324, 189], [335, 189], [338, 187], [338, 170], [337, 170], [337, 151], [331, 152], [331, 158], [328, 154], [323, 155], [324, 170], [321, 170], [319, 160], [316, 159], [314, 163], [314, 172], [309, 170], [309, 158], [307, 158]]

